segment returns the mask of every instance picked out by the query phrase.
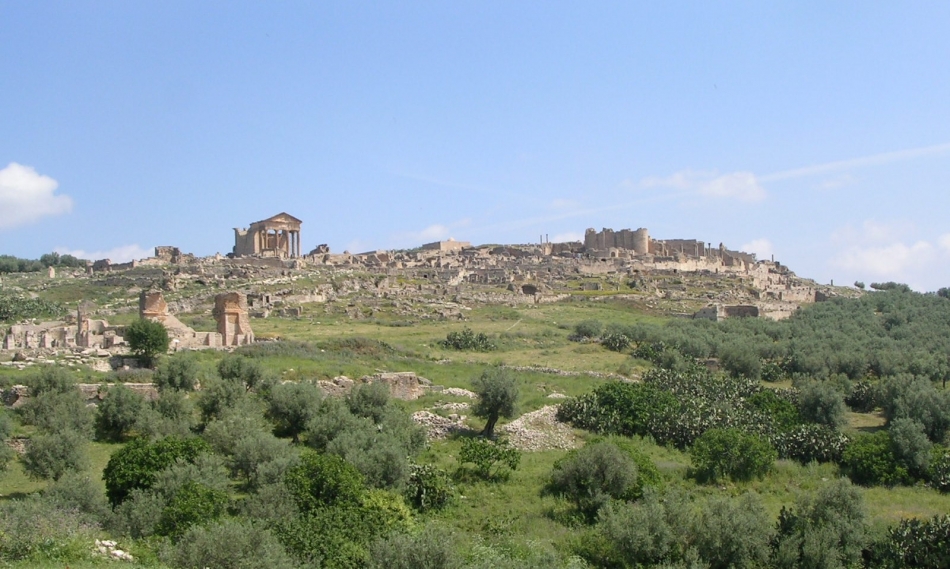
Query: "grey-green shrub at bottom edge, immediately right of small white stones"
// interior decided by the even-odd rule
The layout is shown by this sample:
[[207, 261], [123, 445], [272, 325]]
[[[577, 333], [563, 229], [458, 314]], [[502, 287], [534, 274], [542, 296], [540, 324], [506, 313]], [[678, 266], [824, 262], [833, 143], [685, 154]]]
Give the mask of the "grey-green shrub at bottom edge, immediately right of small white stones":
[[162, 552], [173, 567], [216, 569], [296, 569], [297, 562], [267, 529], [247, 520], [225, 518], [193, 526], [178, 543]]

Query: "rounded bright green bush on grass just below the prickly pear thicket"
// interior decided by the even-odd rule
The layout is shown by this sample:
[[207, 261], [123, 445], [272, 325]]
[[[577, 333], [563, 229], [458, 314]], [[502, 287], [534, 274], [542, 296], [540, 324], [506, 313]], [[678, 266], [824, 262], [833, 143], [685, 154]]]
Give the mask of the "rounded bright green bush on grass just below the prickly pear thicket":
[[706, 431], [696, 439], [689, 456], [697, 480], [709, 482], [762, 478], [778, 458], [768, 441], [738, 429]]

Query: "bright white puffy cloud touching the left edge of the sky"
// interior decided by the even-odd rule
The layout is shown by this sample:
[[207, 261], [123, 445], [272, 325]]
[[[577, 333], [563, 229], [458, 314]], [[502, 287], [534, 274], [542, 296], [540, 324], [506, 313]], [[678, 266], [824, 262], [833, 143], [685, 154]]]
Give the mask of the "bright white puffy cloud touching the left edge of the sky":
[[0, 170], [0, 229], [27, 225], [48, 215], [69, 212], [73, 200], [55, 195], [59, 183], [30, 166], [10, 162]]

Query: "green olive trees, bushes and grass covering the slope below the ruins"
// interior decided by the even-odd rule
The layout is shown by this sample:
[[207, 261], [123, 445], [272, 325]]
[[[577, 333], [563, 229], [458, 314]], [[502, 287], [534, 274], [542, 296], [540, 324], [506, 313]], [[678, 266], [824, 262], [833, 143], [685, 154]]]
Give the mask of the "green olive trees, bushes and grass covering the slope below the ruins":
[[[16, 376], [29, 402], [0, 413], [0, 441], [26, 437], [0, 467], [39, 490], [0, 501], [0, 561], [108, 564], [92, 549], [108, 537], [156, 568], [941, 566], [950, 396], [933, 355], [947, 352], [930, 350], [948, 348], [947, 303], [884, 287], [785, 322], [664, 324], [569, 306], [561, 343], [474, 319], [426, 341], [481, 334], [493, 351], [439, 357], [343, 335], [265, 342], [159, 356], [156, 399], [126, 372], [96, 408], [74, 385], [85, 372], [43, 367]], [[495, 330], [520, 320], [488, 314], [507, 319]], [[639, 381], [497, 365], [529, 342], [626, 360]], [[409, 411], [438, 392], [406, 403], [357, 381], [327, 397], [314, 381], [376, 369], [475, 392], [443, 412], [466, 428], [426, 440]], [[552, 401], [586, 444], [505, 440], [506, 419]]]

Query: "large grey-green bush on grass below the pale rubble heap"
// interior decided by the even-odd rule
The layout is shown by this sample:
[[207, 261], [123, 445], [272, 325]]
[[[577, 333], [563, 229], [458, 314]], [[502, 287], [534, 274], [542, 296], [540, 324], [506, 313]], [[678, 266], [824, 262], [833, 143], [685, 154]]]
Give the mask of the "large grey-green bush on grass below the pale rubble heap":
[[545, 492], [566, 498], [588, 520], [610, 499], [630, 499], [637, 465], [609, 442], [587, 444], [554, 463]]

